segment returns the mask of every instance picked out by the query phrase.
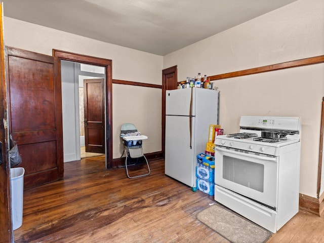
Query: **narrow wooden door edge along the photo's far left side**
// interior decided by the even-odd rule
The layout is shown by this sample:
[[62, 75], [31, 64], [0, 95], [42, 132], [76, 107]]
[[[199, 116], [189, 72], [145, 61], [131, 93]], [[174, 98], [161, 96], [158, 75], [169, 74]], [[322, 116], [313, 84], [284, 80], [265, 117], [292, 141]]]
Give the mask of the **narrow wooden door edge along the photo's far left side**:
[[0, 3], [0, 242], [13, 242], [11, 222], [10, 164], [8, 161], [8, 124], [3, 39], [3, 8]]

